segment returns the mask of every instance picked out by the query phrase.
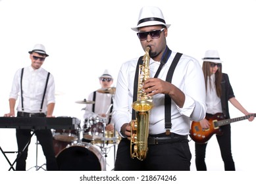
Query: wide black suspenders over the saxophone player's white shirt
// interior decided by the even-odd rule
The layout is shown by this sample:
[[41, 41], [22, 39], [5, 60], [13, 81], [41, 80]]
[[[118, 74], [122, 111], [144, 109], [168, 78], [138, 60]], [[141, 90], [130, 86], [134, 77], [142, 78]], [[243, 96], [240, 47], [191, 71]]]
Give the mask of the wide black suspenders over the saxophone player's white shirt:
[[[168, 57], [170, 57], [170, 50], [168, 51], [168, 47], [166, 48], [167, 53], [166, 55], [168, 55]], [[168, 57], [164, 57], [165, 58], [165, 62], [161, 63], [159, 66], [159, 70], [157, 71], [156, 75], [159, 74], [162, 66], [166, 63], [166, 61], [168, 60]], [[170, 65], [170, 68], [168, 70], [167, 76], [166, 76], [166, 81], [171, 82], [172, 81], [172, 76], [174, 73], [174, 70], [178, 64], [178, 61], [180, 60], [180, 57], [182, 57], [181, 53], [176, 53], [174, 59], [172, 60], [172, 64]], [[138, 93], [138, 77], [139, 77], [139, 65], [143, 64], [142, 61], [143, 57], [140, 57], [138, 60], [138, 64], [136, 66], [136, 74], [135, 74], [135, 78], [134, 78], [134, 96], [133, 96], [133, 101], [137, 100], [137, 93]], [[157, 76], [155, 76], [154, 78], [157, 78]], [[171, 98], [169, 95], [165, 95], [165, 129], [166, 129], [166, 134], [170, 134], [170, 129], [172, 128], [172, 123], [171, 123]], [[135, 110], [132, 109], [132, 120], [136, 119], [136, 113]]]

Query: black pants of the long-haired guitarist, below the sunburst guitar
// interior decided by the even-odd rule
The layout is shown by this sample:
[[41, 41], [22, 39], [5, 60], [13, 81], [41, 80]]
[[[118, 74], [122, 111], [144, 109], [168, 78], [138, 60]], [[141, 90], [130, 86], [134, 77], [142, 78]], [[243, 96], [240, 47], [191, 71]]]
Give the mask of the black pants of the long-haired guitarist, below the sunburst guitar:
[[[231, 152], [231, 130], [230, 125], [222, 126], [223, 135], [216, 135], [218, 146], [220, 147], [220, 153], [224, 162], [224, 170], [234, 171], [235, 164], [232, 158]], [[209, 140], [211, 141], [211, 139]], [[205, 164], [205, 152], [207, 143], [197, 144], [195, 143], [195, 166], [197, 171], [206, 171], [207, 167]], [[211, 153], [210, 153], [211, 154]]]

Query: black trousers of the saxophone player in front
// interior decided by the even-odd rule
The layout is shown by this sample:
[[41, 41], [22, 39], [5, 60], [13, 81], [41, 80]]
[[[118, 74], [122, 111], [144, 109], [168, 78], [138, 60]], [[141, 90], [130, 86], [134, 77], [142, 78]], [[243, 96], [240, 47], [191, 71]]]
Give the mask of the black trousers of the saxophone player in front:
[[130, 156], [130, 141], [122, 139], [116, 152], [115, 171], [189, 171], [192, 154], [188, 141], [148, 145], [147, 158]]

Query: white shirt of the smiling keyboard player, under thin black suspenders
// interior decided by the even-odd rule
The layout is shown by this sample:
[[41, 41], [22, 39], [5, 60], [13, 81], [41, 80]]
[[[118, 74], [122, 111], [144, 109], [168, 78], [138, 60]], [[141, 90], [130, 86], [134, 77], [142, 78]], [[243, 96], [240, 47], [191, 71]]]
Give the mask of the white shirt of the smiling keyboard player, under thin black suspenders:
[[[16, 71], [13, 79], [13, 86], [11, 89], [10, 99], [18, 99], [20, 96], [20, 77], [21, 68]], [[45, 83], [47, 80], [48, 72], [39, 68], [34, 70], [32, 66], [24, 68], [22, 77], [22, 96], [24, 112], [38, 113], [41, 108], [41, 101], [43, 99], [43, 91], [45, 89]], [[47, 114], [47, 104], [55, 103], [55, 82], [53, 75], [50, 74], [47, 84], [47, 90], [45, 93], [45, 99], [43, 101], [42, 112]], [[22, 111], [21, 97], [19, 97], [18, 111]]]

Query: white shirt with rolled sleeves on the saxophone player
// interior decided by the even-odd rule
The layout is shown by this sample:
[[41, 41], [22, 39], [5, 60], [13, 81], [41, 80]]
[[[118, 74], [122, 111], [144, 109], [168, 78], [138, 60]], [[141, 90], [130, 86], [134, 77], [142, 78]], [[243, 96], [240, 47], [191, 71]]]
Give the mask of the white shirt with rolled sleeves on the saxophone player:
[[[176, 53], [172, 52], [170, 58], [163, 66], [158, 78], [166, 80], [166, 74]], [[122, 64], [118, 73], [116, 94], [113, 108], [113, 122], [116, 130], [120, 132], [123, 124], [132, 120], [132, 98], [134, 93], [134, 77], [138, 58], [134, 58]], [[149, 61], [150, 77], [153, 78], [160, 62], [153, 59]], [[195, 58], [182, 55], [178, 62], [172, 84], [185, 94], [183, 108], [179, 108], [172, 101], [171, 116], [173, 133], [188, 135], [190, 131], [190, 120], [199, 121], [205, 117], [205, 83], [201, 66]], [[165, 95], [153, 96], [154, 107], [149, 117], [149, 134], [165, 133]]]

